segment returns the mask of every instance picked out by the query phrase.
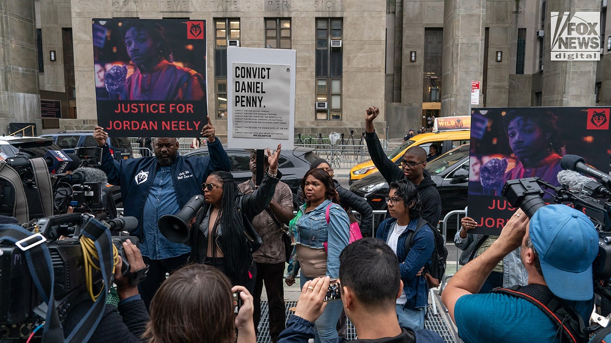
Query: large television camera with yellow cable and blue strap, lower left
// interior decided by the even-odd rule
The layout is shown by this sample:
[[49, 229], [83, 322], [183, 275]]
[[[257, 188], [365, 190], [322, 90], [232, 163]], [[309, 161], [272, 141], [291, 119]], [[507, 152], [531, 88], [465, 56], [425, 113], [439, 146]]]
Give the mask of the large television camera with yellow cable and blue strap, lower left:
[[[136, 228], [134, 217], [101, 222], [92, 215], [74, 213], [39, 218], [29, 225], [27, 230], [0, 226], [0, 341], [25, 341], [43, 321], [53, 325], [54, 317], [61, 328], [70, 307], [90, 294], [100, 292], [102, 300], [92, 299], [88, 313], [95, 313], [96, 306], [103, 310], [116, 255], [121, 256], [122, 271], [133, 286], [146, 276], [148, 266], [126, 273], [130, 264], [122, 243], [130, 239], [137, 245], [138, 240], [120, 235]], [[45, 276], [46, 266], [50, 272]], [[95, 330], [91, 326], [82, 330]]]

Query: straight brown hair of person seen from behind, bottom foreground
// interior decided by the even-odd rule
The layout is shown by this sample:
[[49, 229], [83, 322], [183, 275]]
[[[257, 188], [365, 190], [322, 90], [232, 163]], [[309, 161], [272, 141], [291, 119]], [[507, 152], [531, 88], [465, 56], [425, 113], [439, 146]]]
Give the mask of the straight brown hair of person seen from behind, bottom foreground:
[[150, 343], [235, 342], [231, 287], [227, 276], [210, 265], [176, 270], [151, 301], [144, 337]]

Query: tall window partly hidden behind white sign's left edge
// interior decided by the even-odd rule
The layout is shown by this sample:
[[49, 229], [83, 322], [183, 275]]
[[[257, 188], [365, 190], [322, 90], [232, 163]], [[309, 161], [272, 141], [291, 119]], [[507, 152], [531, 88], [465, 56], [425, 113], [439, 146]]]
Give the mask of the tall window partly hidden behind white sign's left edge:
[[227, 46], [230, 40], [240, 40], [239, 18], [214, 20], [214, 90], [216, 118], [227, 119]]

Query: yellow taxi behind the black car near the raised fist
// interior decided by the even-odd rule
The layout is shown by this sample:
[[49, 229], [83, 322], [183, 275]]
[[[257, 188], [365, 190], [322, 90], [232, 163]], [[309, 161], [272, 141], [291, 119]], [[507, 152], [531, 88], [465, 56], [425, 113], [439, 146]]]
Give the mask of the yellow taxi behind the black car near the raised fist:
[[[411, 139], [406, 140], [405, 142], [401, 143], [401, 145], [397, 146], [397, 148], [390, 151], [386, 156], [390, 159], [390, 161], [395, 162], [395, 164], [398, 165], [397, 161], [403, 157], [405, 151], [414, 146], [420, 146], [426, 151], [426, 153], [428, 153], [429, 146], [435, 143], [437, 146], [439, 146], [439, 154], [444, 154], [457, 146], [469, 143], [470, 138], [470, 130], [427, 132], [424, 134], [415, 135]], [[371, 160], [360, 162], [350, 170], [350, 179], [348, 184], [353, 184], [354, 181], [377, 172], [378, 168], [376, 168]]]

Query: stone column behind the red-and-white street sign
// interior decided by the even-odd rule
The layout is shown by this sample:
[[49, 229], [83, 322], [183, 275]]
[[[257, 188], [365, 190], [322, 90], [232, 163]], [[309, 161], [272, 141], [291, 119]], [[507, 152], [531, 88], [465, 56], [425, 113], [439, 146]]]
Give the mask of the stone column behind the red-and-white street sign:
[[470, 114], [471, 81], [482, 81], [485, 17], [485, 0], [444, 2], [442, 117]]

